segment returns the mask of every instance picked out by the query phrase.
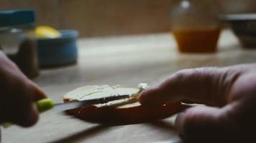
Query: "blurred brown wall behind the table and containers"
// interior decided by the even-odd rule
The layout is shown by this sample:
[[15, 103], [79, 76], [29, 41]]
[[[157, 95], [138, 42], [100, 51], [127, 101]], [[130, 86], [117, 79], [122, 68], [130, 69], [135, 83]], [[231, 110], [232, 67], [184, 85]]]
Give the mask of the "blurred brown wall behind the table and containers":
[[[0, 0], [0, 9], [35, 9], [38, 25], [77, 29], [81, 37], [169, 31], [176, 0]], [[256, 12], [255, 0], [216, 0], [222, 14]]]

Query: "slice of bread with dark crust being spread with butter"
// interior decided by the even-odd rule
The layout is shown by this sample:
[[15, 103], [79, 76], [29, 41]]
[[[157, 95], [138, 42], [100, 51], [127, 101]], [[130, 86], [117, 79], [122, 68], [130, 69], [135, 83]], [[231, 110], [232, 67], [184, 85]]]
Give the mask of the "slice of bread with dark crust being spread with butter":
[[119, 99], [106, 104], [95, 104], [90, 107], [68, 110], [67, 113], [87, 122], [100, 124], [138, 124], [170, 117], [180, 109], [179, 103], [164, 104], [156, 107], [145, 107], [138, 102], [138, 97], [147, 87], [139, 84], [137, 88], [109, 85], [86, 86], [75, 89], [64, 95], [64, 102], [76, 102], [119, 95], [130, 95], [129, 99]]

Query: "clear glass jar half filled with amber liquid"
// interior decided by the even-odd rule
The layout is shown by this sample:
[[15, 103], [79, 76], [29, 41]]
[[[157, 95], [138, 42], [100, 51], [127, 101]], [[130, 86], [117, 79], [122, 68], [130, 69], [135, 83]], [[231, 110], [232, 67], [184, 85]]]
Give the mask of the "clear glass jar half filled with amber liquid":
[[218, 15], [218, 6], [212, 0], [173, 0], [171, 31], [179, 51], [216, 51], [221, 31]]

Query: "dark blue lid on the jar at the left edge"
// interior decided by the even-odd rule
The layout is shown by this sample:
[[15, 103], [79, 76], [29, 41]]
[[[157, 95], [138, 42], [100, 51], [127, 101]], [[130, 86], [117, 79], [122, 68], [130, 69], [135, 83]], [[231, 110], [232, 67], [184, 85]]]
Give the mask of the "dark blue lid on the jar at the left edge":
[[0, 11], [0, 27], [30, 24], [35, 22], [33, 10], [9, 10]]

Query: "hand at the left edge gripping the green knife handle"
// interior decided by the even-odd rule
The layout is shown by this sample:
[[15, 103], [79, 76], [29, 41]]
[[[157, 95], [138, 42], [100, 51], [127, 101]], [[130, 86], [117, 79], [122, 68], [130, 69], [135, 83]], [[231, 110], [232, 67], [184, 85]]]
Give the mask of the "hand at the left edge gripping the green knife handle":
[[0, 65], [0, 124], [32, 126], [38, 119], [34, 102], [45, 98], [45, 94], [1, 51]]

